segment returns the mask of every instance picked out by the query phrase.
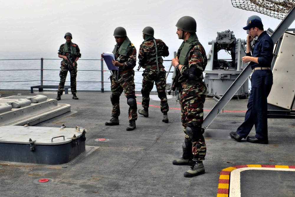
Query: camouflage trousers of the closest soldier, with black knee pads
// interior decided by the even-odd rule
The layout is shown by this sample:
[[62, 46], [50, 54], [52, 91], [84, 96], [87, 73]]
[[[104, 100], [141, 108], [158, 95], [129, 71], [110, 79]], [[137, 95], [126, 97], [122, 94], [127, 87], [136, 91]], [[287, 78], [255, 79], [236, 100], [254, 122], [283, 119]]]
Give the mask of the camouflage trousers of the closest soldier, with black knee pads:
[[[181, 122], [184, 127], [188, 123], [193, 126], [201, 126], [204, 116], [204, 102], [207, 95], [207, 88], [203, 82], [191, 86], [183, 87], [179, 92], [179, 102], [181, 104]], [[194, 161], [202, 161], [206, 156], [206, 143], [203, 135], [197, 141], [192, 141], [186, 134], [185, 138], [192, 143], [192, 153]]]

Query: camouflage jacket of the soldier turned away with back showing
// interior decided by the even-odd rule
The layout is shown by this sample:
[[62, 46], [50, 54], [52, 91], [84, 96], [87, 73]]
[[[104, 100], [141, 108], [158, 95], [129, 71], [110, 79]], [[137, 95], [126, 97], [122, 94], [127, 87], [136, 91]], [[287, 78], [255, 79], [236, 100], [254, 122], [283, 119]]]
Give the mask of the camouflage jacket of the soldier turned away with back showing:
[[[154, 43], [153, 36], [147, 36], [147, 38], [142, 42], [140, 45], [140, 49], [138, 52], [138, 64], [141, 65], [143, 68], [148, 65], [157, 65], [156, 62], [156, 48]], [[168, 56], [168, 46], [160, 39], [155, 39], [157, 43], [157, 52], [158, 52], [158, 65], [159, 68], [163, 66], [163, 58], [162, 56]]]

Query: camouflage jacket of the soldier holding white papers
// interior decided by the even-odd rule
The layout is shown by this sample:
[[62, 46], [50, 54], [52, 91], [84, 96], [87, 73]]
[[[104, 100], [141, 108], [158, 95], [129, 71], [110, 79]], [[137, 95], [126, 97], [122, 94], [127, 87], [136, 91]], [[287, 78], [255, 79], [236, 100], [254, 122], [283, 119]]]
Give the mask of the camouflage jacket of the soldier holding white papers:
[[120, 55], [119, 54], [120, 46], [117, 46], [115, 60], [119, 61], [119, 63], [123, 64], [123, 67], [119, 67], [119, 72], [124, 70], [132, 70], [136, 65], [136, 48], [135, 46], [130, 43], [127, 48], [127, 55]]

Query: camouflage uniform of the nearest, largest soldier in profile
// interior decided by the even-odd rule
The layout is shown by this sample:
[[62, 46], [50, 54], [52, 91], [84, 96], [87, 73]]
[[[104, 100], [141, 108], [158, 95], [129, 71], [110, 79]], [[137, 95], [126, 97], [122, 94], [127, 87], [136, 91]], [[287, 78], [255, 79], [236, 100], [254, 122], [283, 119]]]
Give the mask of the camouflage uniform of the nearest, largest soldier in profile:
[[[201, 128], [203, 123], [203, 107], [207, 94], [207, 88], [203, 82], [203, 71], [207, 65], [207, 56], [204, 47], [199, 43], [196, 34], [192, 34], [186, 42], [192, 43], [192, 48], [188, 54], [183, 54], [185, 58], [179, 63], [183, 65], [181, 71], [178, 71], [177, 86], [179, 88], [179, 102], [181, 104], [181, 121], [186, 133], [186, 127], [196, 128], [198, 134], [191, 139], [186, 133], [185, 142], [192, 143], [192, 157], [194, 161], [202, 161], [206, 155], [206, 143], [204, 129]], [[178, 57], [181, 57], [181, 50], [184, 42], [179, 48]], [[195, 78], [187, 79], [189, 70], [194, 70]], [[189, 158], [183, 158], [189, 159]]]

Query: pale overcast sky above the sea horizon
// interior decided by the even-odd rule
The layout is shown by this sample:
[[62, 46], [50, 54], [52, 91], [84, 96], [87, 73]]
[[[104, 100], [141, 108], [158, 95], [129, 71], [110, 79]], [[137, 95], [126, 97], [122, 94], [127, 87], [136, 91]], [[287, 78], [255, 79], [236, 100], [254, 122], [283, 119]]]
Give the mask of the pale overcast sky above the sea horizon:
[[[281, 22], [256, 12], [232, 6], [231, 0], [0, 0], [0, 59], [58, 58], [64, 35], [71, 32], [83, 59], [98, 59], [114, 48], [114, 29], [124, 27], [137, 50], [142, 30], [151, 26], [155, 38], [169, 47], [170, 56], [182, 40], [176, 35], [180, 17], [191, 16], [197, 22], [197, 35], [206, 53], [217, 32], [233, 31], [246, 39], [242, 29], [251, 15], [261, 17], [265, 30], [275, 30]], [[295, 28], [294, 23], [290, 28]]]

